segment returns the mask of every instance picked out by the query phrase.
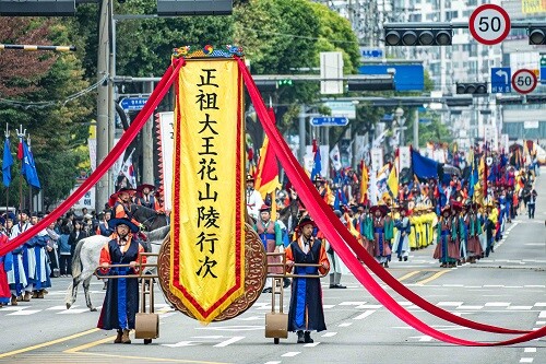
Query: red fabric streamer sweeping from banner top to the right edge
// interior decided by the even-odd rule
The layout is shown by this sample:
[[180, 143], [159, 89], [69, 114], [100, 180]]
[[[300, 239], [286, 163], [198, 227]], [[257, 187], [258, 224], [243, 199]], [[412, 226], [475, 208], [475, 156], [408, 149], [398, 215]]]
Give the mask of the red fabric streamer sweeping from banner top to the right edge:
[[[342, 260], [355, 273], [360, 283], [363, 283], [363, 285], [366, 286], [366, 289], [380, 303], [382, 303], [389, 310], [395, 314], [404, 322], [408, 324], [410, 326], [414, 327], [420, 332], [428, 334], [432, 338], [436, 338], [438, 340], [460, 345], [473, 345], [473, 347], [507, 345], [507, 344], [514, 344], [519, 342], [533, 340], [536, 338], [544, 337], [546, 334], [546, 327], [536, 331], [529, 332], [529, 331], [498, 328], [495, 326], [474, 322], [472, 320], [458, 317], [423, 300], [422, 297], [410, 291], [407, 287], [405, 287], [402, 283], [397, 282], [384, 269], [382, 269], [382, 267], [380, 267], [379, 263], [375, 261], [375, 259], [366, 253], [366, 250], [358, 244], [358, 242], [356, 242], [356, 239], [348, 233], [348, 231], [346, 231], [345, 226], [343, 226], [341, 221], [333, 214], [331, 209], [328, 206], [325, 206], [325, 202], [322, 201], [317, 190], [311, 185], [309, 178], [302, 171], [301, 166], [299, 166], [299, 163], [296, 161], [296, 158], [289, 151], [288, 145], [286, 144], [282, 136], [280, 136], [278, 131], [272, 126], [263, 99], [261, 98], [258, 87], [256, 86], [252, 77], [247, 70], [245, 63], [240, 59], [238, 59], [238, 62], [239, 62], [239, 68], [241, 69], [242, 72], [242, 77], [245, 79], [247, 90], [252, 99], [252, 104], [257, 108], [260, 121], [262, 122], [262, 126], [264, 127], [268, 137], [270, 138], [272, 144], [275, 146], [276, 155], [280, 158], [283, 167], [286, 169], [288, 178], [290, 179], [293, 185], [297, 188], [301, 200], [309, 208], [309, 211], [311, 212], [313, 218], [320, 223], [321, 226], [323, 226], [322, 231], [327, 235], [329, 242], [332, 243], [334, 249], [336, 249], [336, 251], [340, 254]], [[339, 234], [341, 234], [342, 236], [340, 236]], [[363, 259], [363, 261], [365, 261], [365, 263], [372, 271], [375, 271], [378, 274], [378, 277], [380, 277], [387, 284], [391, 285], [399, 294], [403, 295], [407, 300], [412, 297], [413, 301], [412, 300], [410, 301], [412, 301], [414, 304], [418, 305], [419, 307], [426, 309], [431, 314], [435, 314], [440, 318], [447, 319], [458, 325], [488, 332], [499, 332], [499, 333], [527, 332], [527, 333], [507, 341], [483, 343], [483, 342], [459, 339], [446, 334], [443, 332], [440, 332], [438, 330], [435, 330], [425, 322], [417, 319], [405, 308], [403, 308], [399, 303], [396, 303], [396, 301], [394, 301], [389, 294], [387, 294], [387, 292], [384, 292], [384, 290], [373, 280], [373, 278], [361, 267], [361, 265], [354, 257], [351, 250], [348, 250], [346, 245], [342, 244], [342, 242], [346, 242], [346, 244], [351, 246], [351, 248], [357, 254], [357, 256], [360, 259]]]

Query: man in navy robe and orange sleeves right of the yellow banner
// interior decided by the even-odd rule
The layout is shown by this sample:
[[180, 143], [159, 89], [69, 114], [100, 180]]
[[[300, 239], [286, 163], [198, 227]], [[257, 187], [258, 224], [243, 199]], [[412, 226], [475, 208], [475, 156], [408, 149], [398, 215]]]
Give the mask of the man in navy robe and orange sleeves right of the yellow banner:
[[[304, 216], [296, 226], [297, 239], [286, 248], [286, 269], [294, 274], [327, 274], [330, 270], [324, 245], [312, 236], [316, 224]], [[316, 263], [320, 267], [295, 267], [295, 263]], [[296, 331], [298, 343], [313, 342], [311, 332], [327, 329], [322, 307], [322, 289], [318, 278], [294, 278], [288, 312], [288, 331]]]

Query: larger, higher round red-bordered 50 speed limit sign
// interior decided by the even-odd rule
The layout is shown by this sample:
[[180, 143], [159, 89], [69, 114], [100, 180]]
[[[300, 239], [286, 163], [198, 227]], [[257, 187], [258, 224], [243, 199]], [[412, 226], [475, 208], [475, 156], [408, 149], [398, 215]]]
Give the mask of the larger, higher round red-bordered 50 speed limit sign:
[[491, 46], [505, 40], [510, 33], [510, 16], [501, 7], [486, 3], [472, 12], [468, 30], [474, 39]]

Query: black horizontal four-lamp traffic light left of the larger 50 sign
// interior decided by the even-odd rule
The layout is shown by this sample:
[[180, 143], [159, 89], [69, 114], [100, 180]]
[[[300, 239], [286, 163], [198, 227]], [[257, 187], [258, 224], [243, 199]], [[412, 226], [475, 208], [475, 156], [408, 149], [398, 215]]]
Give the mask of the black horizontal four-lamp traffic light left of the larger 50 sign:
[[387, 46], [450, 46], [453, 32], [450, 27], [394, 27], [384, 25]]

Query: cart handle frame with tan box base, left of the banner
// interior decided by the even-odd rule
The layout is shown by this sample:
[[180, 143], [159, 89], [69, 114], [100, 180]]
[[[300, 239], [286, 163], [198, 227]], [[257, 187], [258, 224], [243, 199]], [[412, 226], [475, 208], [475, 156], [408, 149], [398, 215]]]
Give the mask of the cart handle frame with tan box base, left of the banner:
[[[157, 271], [157, 263], [143, 263], [142, 257], [157, 257], [156, 253], [142, 253], [140, 255], [136, 268], [139, 271], [136, 274], [123, 274], [123, 275], [108, 275], [102, 274], [99, 271], [104, 267], [97, 267], [95, 269], [95, 275], [100, 279], [119, 279], [119, 278], [134, 278], [141, 280], [140, 293], [140, 309], [136, 313], [134, 320], [134, 338], [144, 339], [144, 344], [152, 342], [152, 339], [157, 339], [159, 337], [159, 315], [154, 313], [154, 279], [158, 278], [157, 273], [150, 274], [144, 273], [145, 268], [155, 268]], [[107, 269], [112, 268], [127, 268], [131, 265], [109, 265]], [[149, 304], [146, 305], [146, 296], [150, 297]]]

